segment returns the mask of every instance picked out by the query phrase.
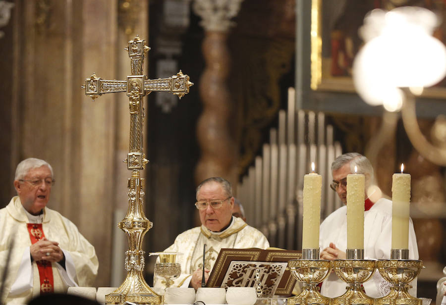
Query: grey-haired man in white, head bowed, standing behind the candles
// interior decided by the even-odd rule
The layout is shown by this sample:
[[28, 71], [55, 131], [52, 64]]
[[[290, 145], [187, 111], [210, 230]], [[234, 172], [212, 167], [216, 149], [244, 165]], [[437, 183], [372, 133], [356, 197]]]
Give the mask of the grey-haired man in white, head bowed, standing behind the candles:
[[[392, 202], [385, 198], [375, 198], [376, 194], [367, 194], [373, 182], [373, 167], [370, 161], [359, 153], [345, 153], [332, 163], [333, 183], [330, 187], [337, 193], [344, 204], [347, 204], [347, 175], [354, 173], [365, 175], [364, 203], [364, 259], [390, 259], [392, 236]], [[320, 227], [321, 259], [345, 259], [347, 248], [347, 206], [344, 205], [331, 213]], [[409, 259], [418, 259], [418, 247], [409, 220]], [[416, 296], [417, 280], [413, 280], [409, 293]], [[373, 277], [363, 284], [369, 297], [380, 298], [390, 292], [390, 284], [376, 271]], [[335, 272], [322, 283], [321, 293], [335, 298], [345, 293], [346, 284]]]

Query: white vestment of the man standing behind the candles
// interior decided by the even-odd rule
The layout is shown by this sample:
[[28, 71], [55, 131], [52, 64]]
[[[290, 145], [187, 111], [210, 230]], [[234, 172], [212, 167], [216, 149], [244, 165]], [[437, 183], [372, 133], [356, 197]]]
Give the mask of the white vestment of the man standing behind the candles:
[[[334, 243], [344, 251], [347, 248], [347, 206], [344, 205], [331, 213], [321, 224], [319, 245], [321, 251]], [[378, 200], [368, 211], [364, 211], [364, 259], [390, 259], [392, 237], [392, 202], [387, 199]], [[413, 229], [412, 219], [409, 219], [409, 259], [418, 259], [418, 247]], [[413, 280], [409, 289], [416, 296], [417, 281]], [[363, 284], [369, 297], [379, 298], [390, 292], [390, 284], [381, 277], [378, 270], [373, 277]], [[346, 283], [340, 280], [335, 272], [323, 282], [321, 293], [335, 298], [345, 293]]]

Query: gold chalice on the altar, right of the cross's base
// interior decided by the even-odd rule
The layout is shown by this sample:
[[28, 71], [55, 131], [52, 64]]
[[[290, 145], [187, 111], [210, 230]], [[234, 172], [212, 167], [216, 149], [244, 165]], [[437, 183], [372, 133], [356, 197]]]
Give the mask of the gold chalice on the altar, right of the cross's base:
[[155, 263], [155, 276], [163, 279], [164, 291], [173, 284], [172, 279], [176, 279], [181, 274], [181, 264], [176, 262], [178, 252], [154, 252], [150, 255], [159, 255], [160, 262]]

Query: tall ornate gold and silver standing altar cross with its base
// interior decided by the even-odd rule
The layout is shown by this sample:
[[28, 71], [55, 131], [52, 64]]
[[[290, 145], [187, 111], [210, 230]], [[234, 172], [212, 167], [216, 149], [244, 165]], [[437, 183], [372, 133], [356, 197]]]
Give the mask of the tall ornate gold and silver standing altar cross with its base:
[[85, 79], [85, 85], [82, 86], [85, 89], [85, 95], [93, 101], [105, 93], [127, 92], [129, 97], [130, 143], [124, 162], [127, 163], [127, 169], [131, 170], [132, 174], [127, 182], [127, 214], [118, 223], [118, 227], [127, 235], [128, 251], [125, 253], [124, 263], [127, 277], [117, 290], [106, 296], [106, 304], [124, 304], [126, 301], [136, 304], [161, 304], [161, 296], [147, 285], [143, 276], [142, 240], [146, 232], [152, 228], [152, 222], [144, 214], [145, 179], [140, 178], [139, 173], [149, 162], [143, 152], [143, 98], [152, 91], [166, 91], [181, 99], [189, 93], [189, 87], [193, 83], [189, 81], [189, 76], [183, 75], [181, 70], [172, 77], [155, 80], [143, 75], [144, 57], [150, 48], [138, 36], [128, 42], [125, 50], [128, 51], [130, 57], [132, 72], [132, 75], [127, 76], [126, 81], [103, 80], [93, 74]]

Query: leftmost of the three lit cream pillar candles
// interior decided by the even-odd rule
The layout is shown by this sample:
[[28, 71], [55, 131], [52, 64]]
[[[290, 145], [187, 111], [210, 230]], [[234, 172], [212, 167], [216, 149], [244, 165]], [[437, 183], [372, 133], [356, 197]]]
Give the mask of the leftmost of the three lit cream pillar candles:
[[304, 176], [302, 249], [319, 249], [322, 176], [314, 172]]

